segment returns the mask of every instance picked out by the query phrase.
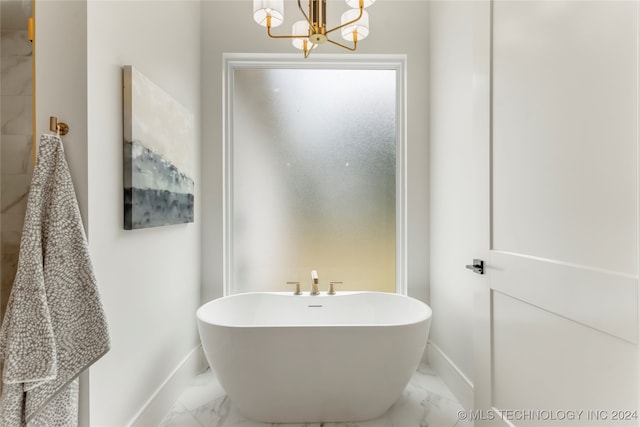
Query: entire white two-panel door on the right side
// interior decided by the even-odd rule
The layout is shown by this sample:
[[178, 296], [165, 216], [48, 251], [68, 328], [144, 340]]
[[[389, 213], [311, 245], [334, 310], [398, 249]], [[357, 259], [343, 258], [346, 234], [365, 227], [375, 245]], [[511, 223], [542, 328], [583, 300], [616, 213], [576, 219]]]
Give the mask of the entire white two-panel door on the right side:
[[476, 12], [476, 425], [638, 425], [638, 3]]

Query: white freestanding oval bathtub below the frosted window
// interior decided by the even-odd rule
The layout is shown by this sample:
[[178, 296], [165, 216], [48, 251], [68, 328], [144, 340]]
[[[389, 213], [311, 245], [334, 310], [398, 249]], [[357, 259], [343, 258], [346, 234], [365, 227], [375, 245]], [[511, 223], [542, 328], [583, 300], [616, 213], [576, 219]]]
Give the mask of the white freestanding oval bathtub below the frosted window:
[[423, 355], [431, 309], [402, 295], [246, 293], [197, 311], [207, 361], [247, 417], [364, 421], [400, 397]]

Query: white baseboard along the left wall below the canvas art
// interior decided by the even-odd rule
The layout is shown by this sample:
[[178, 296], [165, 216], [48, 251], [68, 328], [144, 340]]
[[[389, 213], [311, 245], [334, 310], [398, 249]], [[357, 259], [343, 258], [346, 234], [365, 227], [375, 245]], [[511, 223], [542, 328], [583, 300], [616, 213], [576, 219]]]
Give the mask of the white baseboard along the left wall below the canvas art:
[[169, 413], [185, 387], [207, 368], [207, 360], [198, 345], [178, 364], [171, 375], [133, 417], [128, 427], [155, 427]]

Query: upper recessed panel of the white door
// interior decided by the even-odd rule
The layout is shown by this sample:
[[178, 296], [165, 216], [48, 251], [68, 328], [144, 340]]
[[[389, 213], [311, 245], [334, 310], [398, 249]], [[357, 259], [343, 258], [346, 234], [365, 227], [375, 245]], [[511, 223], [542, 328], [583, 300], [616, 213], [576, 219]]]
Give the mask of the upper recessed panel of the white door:
[[495, 2], [492, 249], [637, 274], [636, 3]]

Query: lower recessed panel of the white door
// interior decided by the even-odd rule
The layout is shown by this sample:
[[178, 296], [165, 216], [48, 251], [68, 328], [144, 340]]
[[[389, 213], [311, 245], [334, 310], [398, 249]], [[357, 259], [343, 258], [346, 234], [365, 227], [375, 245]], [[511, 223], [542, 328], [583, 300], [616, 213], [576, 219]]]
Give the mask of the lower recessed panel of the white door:
[[[493, 406], [522, 410], [507, 416], [511, 422], [540, 426], [545, 417], [566, 416], [547, 424], [637, 424], [631, 417], [626, 422], [611, 419], [614, 408], [637, 404], [636, 383], [629, 381], [637, 378], [637, 371], [627, 369], [637, 361], [634, 344], [500, 292], [494, 292], [493, 305]], [[610, 419], [599, 420], [588, 412], [599, 409], [609, 411]]]

